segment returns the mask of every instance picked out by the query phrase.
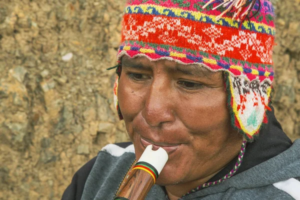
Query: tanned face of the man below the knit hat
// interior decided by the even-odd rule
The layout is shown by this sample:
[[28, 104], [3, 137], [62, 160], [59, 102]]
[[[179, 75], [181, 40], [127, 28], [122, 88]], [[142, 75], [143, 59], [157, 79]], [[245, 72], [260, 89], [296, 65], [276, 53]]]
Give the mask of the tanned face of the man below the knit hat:
[[222, 72], [167, 59], [121, 62], [118, 102], [136, 159], [148, 144], [168, 152], [157, 184], [211, 177], [237, 155], [242, 138], [230, 126]]

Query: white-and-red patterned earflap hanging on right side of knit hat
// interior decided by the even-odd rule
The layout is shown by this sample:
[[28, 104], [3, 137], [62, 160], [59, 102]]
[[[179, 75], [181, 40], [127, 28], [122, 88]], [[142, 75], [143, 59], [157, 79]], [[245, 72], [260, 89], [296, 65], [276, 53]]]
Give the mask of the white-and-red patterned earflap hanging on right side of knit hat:
[[231, 126], [252, 142], [267, 123], [266, 111], [271, 110], [268, 106], [271, 83], [268, 79], [250, 81], [246, 76], [234, 76], [228, 72], [224, 72], [224, 78]]

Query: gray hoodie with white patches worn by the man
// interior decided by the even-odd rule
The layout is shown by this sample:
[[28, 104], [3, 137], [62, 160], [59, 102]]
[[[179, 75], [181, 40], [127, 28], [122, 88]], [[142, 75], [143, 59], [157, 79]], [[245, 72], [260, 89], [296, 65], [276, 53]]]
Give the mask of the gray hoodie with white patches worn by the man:
[[[108, 144], [98, 153], [87, 177], [82, 200], [113, 199], [120, 182], [135, 159], [133, 145]], [[300, 199], [300, 139], [282, 153], [242, 171], [220, 184], [180, 199]], [[292, 197], [293, 196], [293, 197]], [[154, 185], [147, 200], [168, 199], [163, 187]]]

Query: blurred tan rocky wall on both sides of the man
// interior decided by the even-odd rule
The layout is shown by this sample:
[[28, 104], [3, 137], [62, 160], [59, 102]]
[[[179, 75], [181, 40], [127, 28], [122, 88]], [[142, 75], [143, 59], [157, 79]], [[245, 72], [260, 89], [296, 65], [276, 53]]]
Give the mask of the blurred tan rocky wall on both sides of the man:
[[[276, 0], [274, 0], [276, 1]], [[125, 0], [0, 0], [0, 199], [60, 199], [107, 143]], [[300, 1], [277, 0], [273, 105], [300, 137]]]

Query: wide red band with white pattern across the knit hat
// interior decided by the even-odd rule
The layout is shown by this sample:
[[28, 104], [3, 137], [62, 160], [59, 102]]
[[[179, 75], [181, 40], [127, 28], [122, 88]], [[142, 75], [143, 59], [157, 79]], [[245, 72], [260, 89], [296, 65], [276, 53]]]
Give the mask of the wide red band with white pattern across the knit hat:
[[[124, 28], [125, 31], [130, 31], [129, 28], [138, 31], [137, 26], [143, 27], [144, 29], [154, 28], [155, 31], [147, 31], [147, 34], [145, 35], [138, 34], [138, 39], [136, 39], [136, 34], [128, 35], [127, 32], [123, 30], [121, 42], [126, 40], [136, 40], [161, 44], [163, 41], [163, 44], [182, 48], [186, 48], [188, 45], [188, 48], [191, 50], [205, 51], [209, 54], [221, 55], [238, 60], [249, 61], [251, 63], [273, 64], [271, 59], [272, 51], [269, 51], [268, 54], [265, 55], [265, 61], [261, 60], [262, 54], [257, 51], [259, 47], [272, 45], [274, 43], [274, 37], [272, 35], [262, 33], [253, 34], [249, 30], [242, 30], [242, 32], [246, 34], [244, 37], [242, 37], [240, 36], [241, 30], [236, 28], [230, 28], [217, 24], [211, 25], [208, 23], [196, 22], [184, 18], [180, 19], [180, 26], [177, 26], [175, 23], [172, 23], [173, 17], [159, 16], [160, 19], [156, 21], [154, 17], [156, 16], [147, 15], [145, 17], [143, 14], [125, 14], [124, 24], [128, 24], [126, 26], [128, 29]], [[132, 18], [134, 18], [134, 24], [130, 23]], [[150, 21], [151, 24], [144, 27], [146, 21]], [[159, 29], [158, 26], [163, 21], [166, 21], [172, 27], [169, 29], [166, 27]], [[191, 26], [192, 28], [183, 32], [182, 26]], [[140, 31], [143, 31], [143, 29], [140, 29]], [[162, 32], [167, 35], [165, 40], [161, 39]], [[200, 35], [200, 37], [197, 35]], [[234, 39], [234, 37], [232, 37], [233, 35], [236, 35], [237, 38]], [[213, 38], [214, 43], [211, 42], [211, 38]], [[245, 38], [254, 44], [248, 47], [248, 41], [243, 43], [243, 40], [240, 38]]]

